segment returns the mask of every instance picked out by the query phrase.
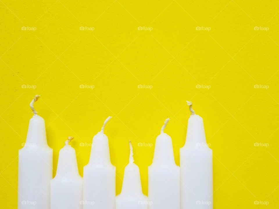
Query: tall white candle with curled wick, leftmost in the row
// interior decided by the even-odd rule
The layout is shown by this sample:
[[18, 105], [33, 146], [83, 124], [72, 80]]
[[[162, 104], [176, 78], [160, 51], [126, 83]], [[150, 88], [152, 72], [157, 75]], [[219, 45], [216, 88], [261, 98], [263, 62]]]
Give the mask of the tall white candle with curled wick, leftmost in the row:
[[25, 146], [18, 156], [18, 209], [49, 209], [50, 181], [52, 179], [52, 149], [47, 145], [44, 119], [37, 115], [31, 101], [34, 116], [29, 121]]

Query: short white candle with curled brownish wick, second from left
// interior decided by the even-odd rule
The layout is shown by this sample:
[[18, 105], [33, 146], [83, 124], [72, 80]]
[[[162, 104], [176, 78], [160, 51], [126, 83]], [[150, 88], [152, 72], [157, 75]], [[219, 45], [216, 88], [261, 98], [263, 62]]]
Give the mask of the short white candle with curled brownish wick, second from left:
[[76, 151], [69, 142], [60, 149], [56, 176], [51, 180], [51, 209], [82, 209], [82, 177], [78, 173]]

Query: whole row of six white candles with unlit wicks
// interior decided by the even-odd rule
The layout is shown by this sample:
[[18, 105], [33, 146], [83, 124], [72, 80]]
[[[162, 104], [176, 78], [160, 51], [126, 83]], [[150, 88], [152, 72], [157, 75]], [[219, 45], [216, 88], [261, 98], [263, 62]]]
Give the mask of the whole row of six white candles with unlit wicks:
[[[68, 137], [60, 149], [56, 176], [52, 179], [53, 151], [47, 145], [44, 119], [37, 115], [34, 102], [26, 145], [19, 150], [19, 209], [196, 209], [213, 208], [212, 150], [207, 146], [203, 119], [192, 109], [186, 143], [180, 149], [180, 167], [175, 164], [171, 137], [164, 133], [165, 120], [156, 138], [154, 157], [148, 168], [148, 197], [142, 193], [139, 167], [134, 163], [130, 144], [121, 193], [115, 197], [115, 166], [111, 164], [108, 137], [104, 128], [94, 137], [89, 163], [83, 178], [78, 173], [75, 149]], [[35, 145], [35, 146], [32, 146]]]

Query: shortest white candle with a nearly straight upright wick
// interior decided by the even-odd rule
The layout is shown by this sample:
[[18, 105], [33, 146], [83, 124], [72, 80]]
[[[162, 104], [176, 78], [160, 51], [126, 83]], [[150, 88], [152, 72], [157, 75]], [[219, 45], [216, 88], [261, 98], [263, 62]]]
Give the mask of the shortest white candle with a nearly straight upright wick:
[[125, 167], [121, 193], [116, 197], [116, 209], [147, 209], [148, 199], [142, 194], [140, 169], [134, 163], [131, 141], [129, 144], [129, 164]]

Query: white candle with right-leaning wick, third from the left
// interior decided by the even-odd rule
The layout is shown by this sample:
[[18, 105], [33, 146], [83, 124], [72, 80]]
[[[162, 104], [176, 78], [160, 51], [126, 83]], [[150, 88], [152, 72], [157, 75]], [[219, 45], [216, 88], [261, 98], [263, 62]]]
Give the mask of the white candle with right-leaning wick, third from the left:
[[83, 169], [84, 209], [115, 209], [115, 166], [110, 162], [108, 137], [104, 127], [93, 137], [89, 163]]

